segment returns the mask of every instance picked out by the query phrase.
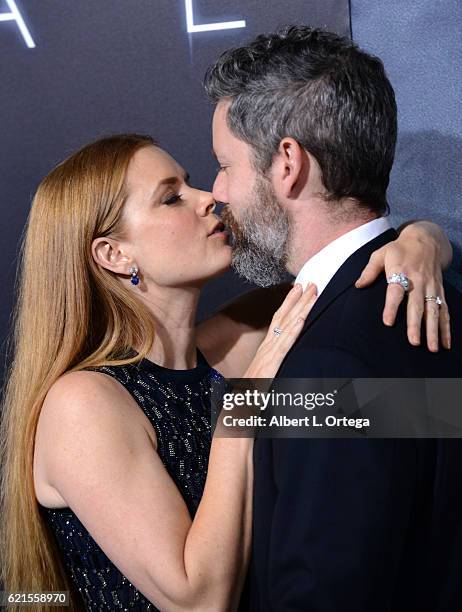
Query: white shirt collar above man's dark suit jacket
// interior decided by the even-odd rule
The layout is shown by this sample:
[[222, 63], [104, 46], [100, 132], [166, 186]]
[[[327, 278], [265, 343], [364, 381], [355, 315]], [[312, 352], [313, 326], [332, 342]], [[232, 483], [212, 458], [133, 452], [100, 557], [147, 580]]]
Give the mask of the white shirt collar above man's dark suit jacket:
[[295, 282], [300, 283], [303, 289], [309, 282], [314, 283], [318, 289], [318, 296], [321, 295], [350, 255], [390, 228], [388, 217], [379, 217], [355, 227], [313, 255], [302, 267]]

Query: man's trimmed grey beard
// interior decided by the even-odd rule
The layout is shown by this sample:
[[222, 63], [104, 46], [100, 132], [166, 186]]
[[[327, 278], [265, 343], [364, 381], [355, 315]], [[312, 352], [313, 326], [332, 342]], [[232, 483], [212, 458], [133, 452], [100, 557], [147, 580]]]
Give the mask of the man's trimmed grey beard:
[[239, 221], [227, 208], [222, 217], [234, 237], [233, 268], [246, 280], [269, 287], [287, 276], [290, 219], [266, 179], [257, 178], [252, 197], [254, 203]]

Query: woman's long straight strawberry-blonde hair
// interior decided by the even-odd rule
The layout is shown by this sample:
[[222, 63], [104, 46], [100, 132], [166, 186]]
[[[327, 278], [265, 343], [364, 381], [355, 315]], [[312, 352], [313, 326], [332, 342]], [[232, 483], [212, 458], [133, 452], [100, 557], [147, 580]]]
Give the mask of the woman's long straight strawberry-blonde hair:
[[[151, 145], [150, 137], [137, 134], [91, 143], [42, 181], [32, 204], [21, 248], [0, 437], [0, 576], [9, 592], [73, 589], [33, 482], [35, 432], [50, 387], [64, 372], [132, 363], [152, 346], [149, 311], [91, 254], [94, 238], [120, 235], [128, 164], [137, 150]], [[71, 610], [79, 610], [78, 603]]]

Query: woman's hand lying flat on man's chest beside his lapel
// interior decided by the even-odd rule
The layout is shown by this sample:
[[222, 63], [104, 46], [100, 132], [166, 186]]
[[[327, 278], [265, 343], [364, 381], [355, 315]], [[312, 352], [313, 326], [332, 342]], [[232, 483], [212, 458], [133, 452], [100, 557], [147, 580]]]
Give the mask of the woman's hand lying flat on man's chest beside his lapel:
[[244, 378], [269, 378], [279, 367], [303, 329], [317, 297], [316, 286], [309, 284], [305, 291], [296, 284], [275, 312], [268, 333], [260, 344]]

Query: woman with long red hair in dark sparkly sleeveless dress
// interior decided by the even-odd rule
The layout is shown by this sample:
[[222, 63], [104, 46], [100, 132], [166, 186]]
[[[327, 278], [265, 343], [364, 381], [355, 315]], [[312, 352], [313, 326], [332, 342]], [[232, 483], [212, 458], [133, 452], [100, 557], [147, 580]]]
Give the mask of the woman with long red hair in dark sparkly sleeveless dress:
[[[84, 147], [40, 185], [2, 423], [8, 591], [70, 589], [73, 610], [82, 600], [97, 610], [236, 607], [252, 441], [210, 445], [219, 374], [194, 329], [202, 286], [231, 261], [213, 209], [137, 135]], [[261, 323], [244, 343], [230, 323], [224, 373], [273, 377], [314, 299], [313, 287], [294, 288], [272, 321], [285, 333], [258, 350]], [[199, 340], [205, 357], [224, 363], [209, 340]]]

